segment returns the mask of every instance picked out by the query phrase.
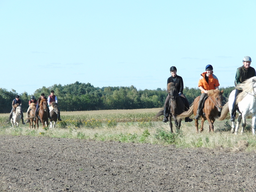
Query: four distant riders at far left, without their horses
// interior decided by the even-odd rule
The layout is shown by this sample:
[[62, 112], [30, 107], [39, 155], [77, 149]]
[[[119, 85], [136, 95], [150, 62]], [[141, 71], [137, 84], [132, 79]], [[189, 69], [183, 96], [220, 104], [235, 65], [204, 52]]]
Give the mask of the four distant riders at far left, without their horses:
[[[31, 118], [31, 116], [29, 115], [29, 112], [31, 111], [31, 104], [32, 103], [35, 104], [35, 106], [36, 106], [35, 114], [33, 116], [33, 120], [36, 121], [36, 118], [38, 118], [39, 105], [40, 105], [40, 102], [41, 102], [42, 99], [46, 99], [45, 98], [45, 93], [41, 93], [41, 96], [37, 100], [35, 99], [35, 96], [33, 96], [33, 95], [30, 97], [30, 100], [28, 101], [29, 107], [28, 107], [28, 110], [27, 110], [27, 120], [26, 120], [26, 123], [29, 123], [29, 118]], [[47, 98], [47, 103], [48, 103], [48, 106], [47, 106], [48, 119], [51, 119], [49, 106], [51, 106], [51, 104], [53, 102], [54, 102], [54, 104], [58, 104], [58, 99], [57, 99], [57, 96], [54, 95], [54, 90], [51, 90], [51, 93], [50, 93], [50, 95]], [[9, 120], [12, 119], [13, 112], [16, 110], [17, 106], [21, 106], [21, 105], [22, 105], [22, 101], [21, 101], [21, 99], [19, 99], [19, 95], [16, 95], [16, 98], [12, 101], [12, 111], [10, 112]], [[58, 110], [59, 110], [59, 107], [58, 107]], [[58, 112], [58, 118], [57, 119], [59, 121], [62, 121], [61, 120], [60, 110]], [[23, 117], [22, 110], [21, 110], [21, 121], [22, 121], [22, 124], [26, 124], [26, 123], [24, 123], [24, 117]]]

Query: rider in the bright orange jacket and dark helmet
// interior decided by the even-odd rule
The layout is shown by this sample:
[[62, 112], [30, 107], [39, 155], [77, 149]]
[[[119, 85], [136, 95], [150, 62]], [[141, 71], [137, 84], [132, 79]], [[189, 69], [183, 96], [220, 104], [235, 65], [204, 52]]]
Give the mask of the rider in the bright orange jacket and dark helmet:
[[198, 87], [201, 90], [201, 96], [199, 99], [195, 119], [199, 119], [199, 117], [201, 116], [202, 102], [208, 90], [218, 90], [220, 86], [218, 78], [213, 74], [213, 66], [207, 65], [205, 67], [205, 70], [206, 72], [201, 74], [201, 77], [199, 78], [198, 81]]

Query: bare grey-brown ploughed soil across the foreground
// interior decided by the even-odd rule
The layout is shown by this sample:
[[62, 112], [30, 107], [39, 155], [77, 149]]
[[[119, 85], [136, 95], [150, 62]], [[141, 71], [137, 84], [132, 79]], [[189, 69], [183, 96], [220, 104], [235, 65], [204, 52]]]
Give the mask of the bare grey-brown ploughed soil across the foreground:
[[0, 136], [0, 191], [255, 191], [255, 152]]

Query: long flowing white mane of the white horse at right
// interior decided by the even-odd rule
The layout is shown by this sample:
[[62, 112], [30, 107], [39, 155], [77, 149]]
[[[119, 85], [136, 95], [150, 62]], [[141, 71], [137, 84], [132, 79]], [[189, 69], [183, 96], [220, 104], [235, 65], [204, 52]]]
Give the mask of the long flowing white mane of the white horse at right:
[[235, 88], [236, 89], [242, 89], [243, 91], [239, 93], [237, 96], [236, 103], [239, 103], [241, 100], [244, 99], [244, 97], [247, 95], [247, 93], [253, 93], [253, 85], [256, 82], [256, 77], [251, 77], [247, 80], [245, 80], [243, 83], [240, 83]]

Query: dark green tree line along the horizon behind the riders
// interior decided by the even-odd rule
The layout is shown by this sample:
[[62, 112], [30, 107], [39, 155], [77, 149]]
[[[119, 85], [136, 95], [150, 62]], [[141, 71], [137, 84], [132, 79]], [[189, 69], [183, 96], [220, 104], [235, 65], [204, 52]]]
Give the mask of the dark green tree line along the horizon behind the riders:
[[[234, 86], [220, 88], [224, 90], [224, 98], [228, 97], [230, 92], [234, 90]], [[156, 90], [137, 90], [133, 85], [128, 86], [107, 86], [94, 87], [90, 83], [75, 83], [62, 86], [61, 84], [52, 85], [48, 88], [43, 86], [34, 92], [34, 96], [38, 99], [41, 93], [45, 93], [47, 97], [50, 91], [54, 90], [54, 94], [58, 98], [58, 105], [61, 111], [91, 111], [91, 110], [108, 110], [108, 109], [145, 109], [158, 108], [164, 106], [167, 91], [157, 88]], [[198, 88], [185, 87], [184, 95], [192, 104], [195, 97], [201, 95]], [[8, 113], [12, 109], [12, 100], [16, 95], [20, 95], [22, 100], [22, 110], [28, 109], [28, 100], [31, 95], [27, 92], [18, 94], [15, 90], [8, 91], [0, 88], [0, 113]]]

